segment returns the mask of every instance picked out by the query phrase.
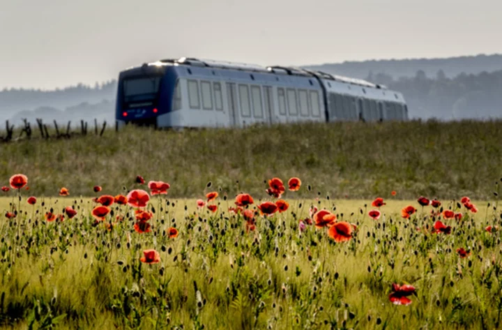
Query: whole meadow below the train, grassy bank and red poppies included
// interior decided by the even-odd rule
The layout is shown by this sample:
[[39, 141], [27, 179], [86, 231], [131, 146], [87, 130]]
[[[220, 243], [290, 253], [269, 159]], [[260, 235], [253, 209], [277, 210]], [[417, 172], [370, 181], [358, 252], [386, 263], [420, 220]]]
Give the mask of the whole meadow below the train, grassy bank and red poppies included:
[[3, 145], [0, 327], [499, 328], [499, 127]]

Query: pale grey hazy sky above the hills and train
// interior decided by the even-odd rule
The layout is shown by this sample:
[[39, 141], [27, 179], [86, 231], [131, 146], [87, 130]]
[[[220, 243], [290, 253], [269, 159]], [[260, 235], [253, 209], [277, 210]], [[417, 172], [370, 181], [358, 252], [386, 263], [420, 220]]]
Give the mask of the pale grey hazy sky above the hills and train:
[[0, 89], [114, 79], [144, 61], [263, 65], [502, 52], [501, 0], [0, 0]]

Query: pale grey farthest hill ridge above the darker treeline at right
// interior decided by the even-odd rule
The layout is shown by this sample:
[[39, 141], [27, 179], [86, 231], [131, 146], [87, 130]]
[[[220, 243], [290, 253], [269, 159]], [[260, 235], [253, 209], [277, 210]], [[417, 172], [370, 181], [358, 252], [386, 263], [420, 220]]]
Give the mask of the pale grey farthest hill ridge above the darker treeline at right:
[[365, 79], [370, 74], [385, 73], [398, 79], [413, 77], [422, 70], [427, 77], [436, 77], [443, 70], [446, 77], [456, 77], [461, 73], [478, 74], [483, 71], [502, 70], [502, 54], [449, 57], [446, 59], [386, 59], [372, 61], [345, 61], [343, 63], [324, 63], [308, 65], [305, 68], [325, 71], [337, 75], [347, 75]]

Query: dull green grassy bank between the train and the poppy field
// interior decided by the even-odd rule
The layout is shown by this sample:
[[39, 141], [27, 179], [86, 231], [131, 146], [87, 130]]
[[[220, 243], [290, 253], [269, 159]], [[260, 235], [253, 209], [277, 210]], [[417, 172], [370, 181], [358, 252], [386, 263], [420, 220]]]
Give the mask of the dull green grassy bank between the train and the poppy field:
[[[174, 197], [199, 197], [208, 181], [264, 195], [259, 183], [298, 176], [322, 196], [414, 199], [492, 197], [502, 177], [502, 121], [305, 123], [183, 133], [128, 127], [103, 137], [3, 144], [0, 177], [22, 172], [36, 195], [73, 196], [129, 188], [137, 175], [172, 184]], [[237, 183], [238, 181], [238, 183]], [[301, 196], [307, 192], [302, 191]]]

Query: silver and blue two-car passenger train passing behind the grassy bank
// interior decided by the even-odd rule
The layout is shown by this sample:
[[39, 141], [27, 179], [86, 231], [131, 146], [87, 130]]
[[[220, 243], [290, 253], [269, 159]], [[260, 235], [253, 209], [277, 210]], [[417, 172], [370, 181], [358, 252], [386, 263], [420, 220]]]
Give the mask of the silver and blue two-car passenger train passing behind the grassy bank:
[[123, 70], [116, 98], [117, 128], [407, 119], [402, 94], [383, 85], [318, 70], [186, 57]]

